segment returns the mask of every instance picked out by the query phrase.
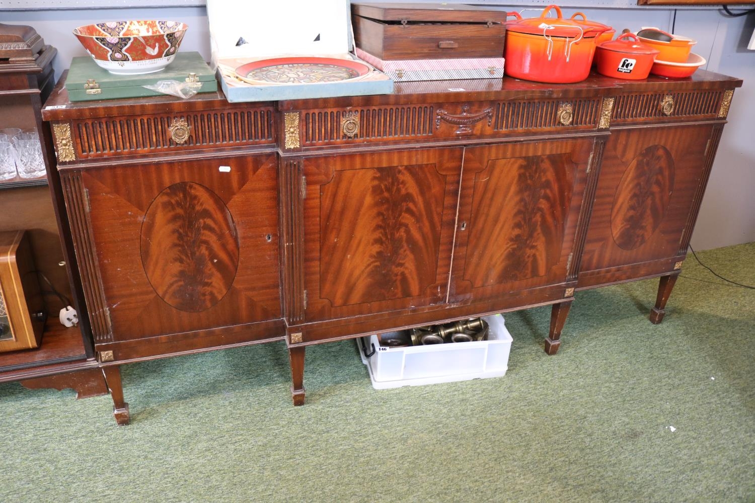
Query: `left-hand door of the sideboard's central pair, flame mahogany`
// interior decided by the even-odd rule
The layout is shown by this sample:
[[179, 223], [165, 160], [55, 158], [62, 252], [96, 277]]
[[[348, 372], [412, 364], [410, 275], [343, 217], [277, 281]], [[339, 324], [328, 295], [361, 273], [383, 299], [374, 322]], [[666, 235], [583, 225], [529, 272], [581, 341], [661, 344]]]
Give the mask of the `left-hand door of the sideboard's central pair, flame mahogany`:
[[304, 158], [307, 322], [445, 302], [462, 152]]

